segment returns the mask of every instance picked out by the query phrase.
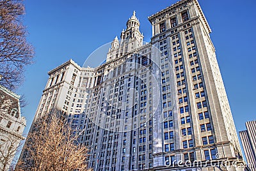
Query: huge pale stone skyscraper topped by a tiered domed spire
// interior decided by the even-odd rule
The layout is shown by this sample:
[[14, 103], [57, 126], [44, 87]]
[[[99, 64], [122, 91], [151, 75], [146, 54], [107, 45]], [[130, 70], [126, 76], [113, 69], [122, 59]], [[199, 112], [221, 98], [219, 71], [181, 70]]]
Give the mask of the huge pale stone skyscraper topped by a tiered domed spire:
[[84, 129], [79, 143], [92, 148], [94, 170], [221, 170], [218, 162], [227, 160], [237, 166], [225, 169], [243, 170], [198, 1], [179, 1], [148, 20], [150, 43], [143, 43], [134, 12], [106, 63], [83, 68], [68, 61], [50, 71], [35, 118], [54, 107], [67, 114], [74, 129]]

